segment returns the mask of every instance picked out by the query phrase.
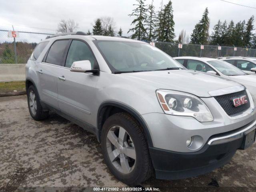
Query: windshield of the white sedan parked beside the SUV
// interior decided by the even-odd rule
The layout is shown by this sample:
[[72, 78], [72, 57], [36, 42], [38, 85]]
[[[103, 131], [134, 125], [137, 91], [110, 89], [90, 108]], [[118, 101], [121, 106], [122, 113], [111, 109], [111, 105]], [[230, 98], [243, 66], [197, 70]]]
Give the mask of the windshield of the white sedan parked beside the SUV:
[[218, 69], [222, 74], [227, 76], [246, 75], [246, 73], [242, 70], [222, 60], [208, 61], [208, 63]]

